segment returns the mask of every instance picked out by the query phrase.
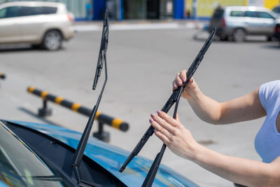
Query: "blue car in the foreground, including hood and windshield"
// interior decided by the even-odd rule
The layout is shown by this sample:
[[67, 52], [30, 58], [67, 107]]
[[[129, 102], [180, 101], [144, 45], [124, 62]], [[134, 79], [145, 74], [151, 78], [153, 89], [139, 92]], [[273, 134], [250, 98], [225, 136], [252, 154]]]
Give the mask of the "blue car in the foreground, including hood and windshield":
[[[78, 186], [72, 163], [80, 137], [64, 127], [0, 120], [0, 186]], [[89, 186], [141, 186], [152, 161], [137, 156], [118, 172], [129, 154], [90, 137], [80, 176]], [[197, 185], [161, 165], [153, 186]]]

